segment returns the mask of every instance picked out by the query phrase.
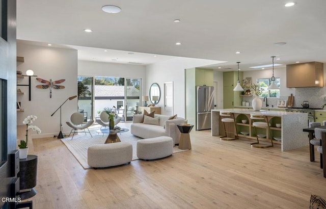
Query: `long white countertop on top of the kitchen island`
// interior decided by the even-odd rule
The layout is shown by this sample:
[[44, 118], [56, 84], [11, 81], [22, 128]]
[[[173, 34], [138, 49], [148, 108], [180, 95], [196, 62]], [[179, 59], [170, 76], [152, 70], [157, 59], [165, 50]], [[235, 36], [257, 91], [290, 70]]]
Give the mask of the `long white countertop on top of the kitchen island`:
[[261, 115], [268, 115], [268, 116], [284, 116], [284, 115], [293, 115], [293, 114], [306, 114], [307, 113], [298, 113], [298, 112], [285, 112], [285, 111], [273, 111], [273, 110], [261, 110], [261, 111], [254, 111], [248, 109], [216, 109], [211, 110], [212, 112], [230, 112], [230, 113], [239, 113], [239, 114], [261, 114]]

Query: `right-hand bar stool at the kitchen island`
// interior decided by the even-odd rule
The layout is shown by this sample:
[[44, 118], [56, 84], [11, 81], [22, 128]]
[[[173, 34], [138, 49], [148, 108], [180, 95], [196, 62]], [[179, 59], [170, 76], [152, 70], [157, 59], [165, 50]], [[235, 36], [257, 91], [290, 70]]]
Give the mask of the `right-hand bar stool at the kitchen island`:
[[[256, 132], [256, 138], [257, 138], [257, 142], [255, 143], [251, 143], [250, 145], [252, 147], [256, 147], [256, 148], [267, 148], [267, 147], [273, 147], [274, 144], [273, 144], [273, 139], [271, 139], [271, 133], [270, 133], [270, 129], [269, 129], [269, 123], [268, 123], [268, 118], [267, 116], [264, 116], [264, 115], [258, 115], [258, 114], [251, 114], [250, 115], [250, 119], [252, 119], [252, 125], [254, 126], [255, 128], [255, 132]], [[262, 122], [262, 121], [254, 121], [254, 120], [265, 120], [265, 122]], [[257, 135], [257, 129], [256, 127], [263, 127], [263, 128], [267, 128], [268, 130], [268, 134], [269, 134], [269, 137], [270, 137], [270, 143], [271, 145], [267, 145], [267, 144], [260, 144], [259, 143], [259, 140], [258, 140], [258, 135]], [[266, 137], [267, 138], [267, 137]], [[268, 139], [268, 138], [267, 138]]]

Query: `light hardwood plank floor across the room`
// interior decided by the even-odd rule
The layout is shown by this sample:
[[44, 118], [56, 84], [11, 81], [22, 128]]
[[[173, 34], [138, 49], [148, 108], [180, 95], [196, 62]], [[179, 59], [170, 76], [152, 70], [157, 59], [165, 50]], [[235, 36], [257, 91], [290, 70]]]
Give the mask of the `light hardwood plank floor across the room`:
[[193, 130], [191, 142], [191, 151], [165, 159], [84, 170], [59, 139], [33, 139], [34, 208], [309, 208], [311, 194], [326, 197], [308, 146], [251, 148], [210, 130]]

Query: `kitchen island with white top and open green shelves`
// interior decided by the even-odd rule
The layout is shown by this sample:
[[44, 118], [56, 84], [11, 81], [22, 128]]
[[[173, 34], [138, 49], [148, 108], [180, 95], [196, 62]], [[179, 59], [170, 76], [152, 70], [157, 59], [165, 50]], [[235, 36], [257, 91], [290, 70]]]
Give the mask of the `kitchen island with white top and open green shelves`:
[[[251, 125], [252, 120], [250, 114], [261, 114], [268, 118], [270, 124], [270, 137], [280, 137], [281, 141], [275, 143], [281, 144], [281, 151], [287, 151], [298, 147], [308, 146], [309, 140], [307, 134], [302, 130], [308, 127], [308, 114], [297, 112], [284, 111], [253, 111], [248, 109], [218, 109], [211, 110], [211, 136], [224, 136], [223, 123], [221, 122], [220, 112], [234, 113], [236, 126], [238, 129], [239, 138], [256, 139], [254, 127]], [[242, 120], [247, 120], [242, 123]], [[281, 123], [281, 127], [276, 127], [276, 123]], [[233, 128], [233, 124], [228, 125], [227, 128]], [[234, 129], [234, 128], [233, 128]], [[245, 134], [241, 134], [245, 133]], [[265, 134], [267, 137], [269, 133], [267, 129], [257, 128], [257, 134]], [[264, 139], [260, 139], [263, 140]], [[265, 139], [266, 140], [266, 139]]]

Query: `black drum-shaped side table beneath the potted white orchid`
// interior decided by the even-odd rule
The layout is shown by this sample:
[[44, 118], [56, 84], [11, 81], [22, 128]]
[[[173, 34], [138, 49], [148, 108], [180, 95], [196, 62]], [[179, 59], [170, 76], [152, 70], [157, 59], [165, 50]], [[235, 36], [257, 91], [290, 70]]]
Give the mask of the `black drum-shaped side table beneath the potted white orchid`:
[[33, 187], [36, 186], [37, 155], [27, 155], [26, 159], [20, 159], [19, 167], [17, 177], [20, 181], [20, 190], [18, 195], [24, 200], [36, 195]]

